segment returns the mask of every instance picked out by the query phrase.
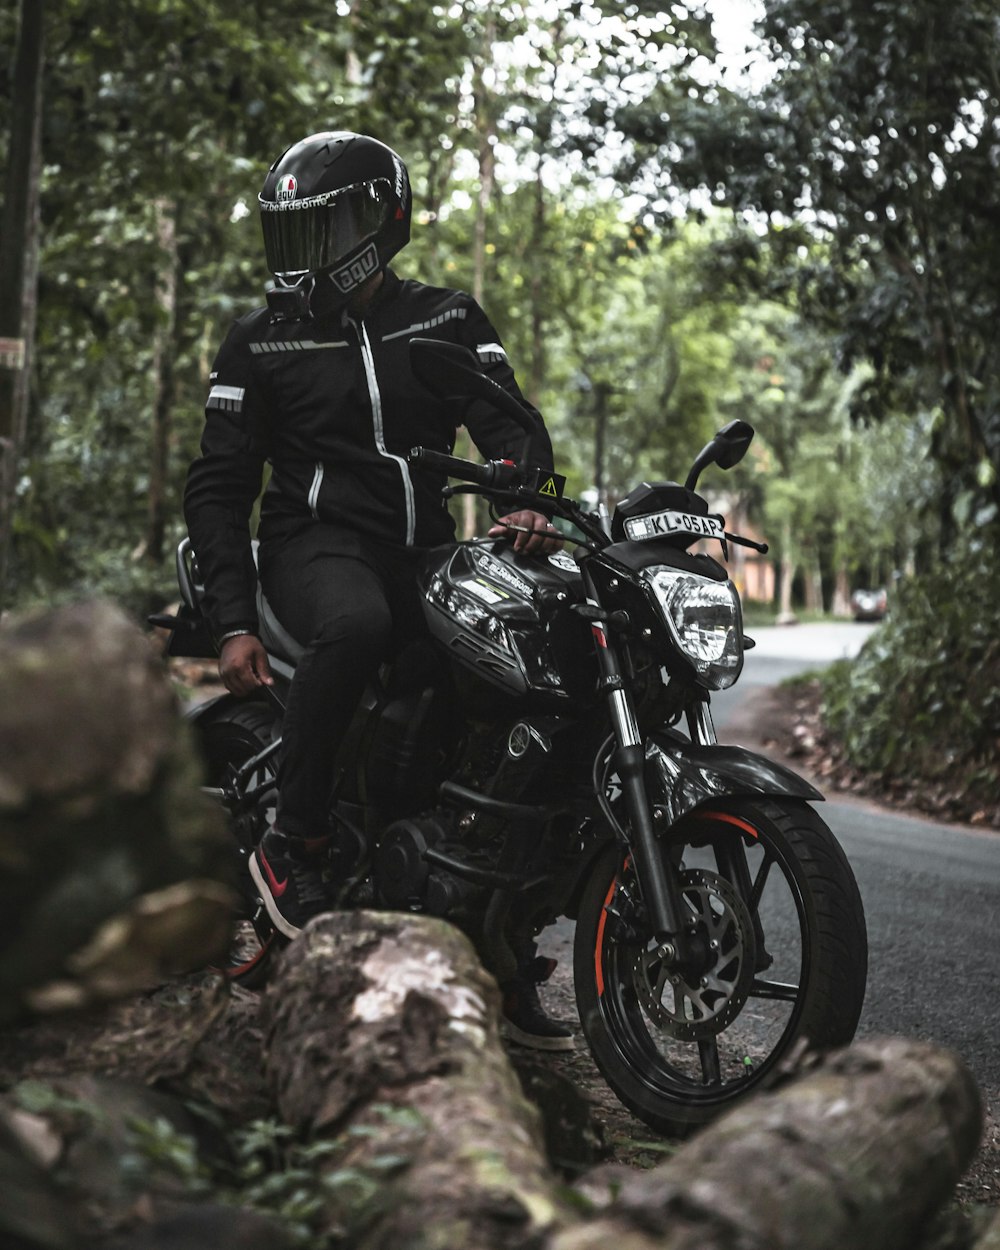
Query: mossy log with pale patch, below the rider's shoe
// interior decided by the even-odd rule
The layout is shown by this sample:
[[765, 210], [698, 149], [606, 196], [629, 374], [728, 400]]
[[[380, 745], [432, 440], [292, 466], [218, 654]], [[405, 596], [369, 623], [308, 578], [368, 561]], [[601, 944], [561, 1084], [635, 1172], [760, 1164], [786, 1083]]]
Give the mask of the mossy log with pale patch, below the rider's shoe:
[[265, 1002], [268, 1072], [284, 1120], [341, 1145], [329, 1228], [346, 1244], [520, 1250], [571, 1221], [498, 1000], [444, 921], [324, 916], [285, 952]]

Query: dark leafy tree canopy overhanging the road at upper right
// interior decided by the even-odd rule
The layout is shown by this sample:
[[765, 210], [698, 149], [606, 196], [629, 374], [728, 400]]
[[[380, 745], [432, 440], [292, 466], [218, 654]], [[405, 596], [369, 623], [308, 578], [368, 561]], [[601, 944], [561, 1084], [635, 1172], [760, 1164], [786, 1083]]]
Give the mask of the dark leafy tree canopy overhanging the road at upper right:
[[778, 264], [759, 276], [836, 334], [845, 368], [870, 365], [855, 411], [936, 412], [941, 495], [995, 509], [995, 4], [780, 0], [760, 30], [756, 95], [692, 109], [682, 134], [661, 118], [650, 139], [682, 185], [766, 218]]

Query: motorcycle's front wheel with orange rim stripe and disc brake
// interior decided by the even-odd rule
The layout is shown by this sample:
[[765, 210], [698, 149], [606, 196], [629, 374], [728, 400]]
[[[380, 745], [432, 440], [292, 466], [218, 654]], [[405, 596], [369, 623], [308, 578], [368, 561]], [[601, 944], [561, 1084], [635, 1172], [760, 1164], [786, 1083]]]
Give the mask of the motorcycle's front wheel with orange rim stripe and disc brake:
[[696, 966], [664, 961], [612, 846], [581, 896], [574, 976], [608, 1084], [651, 1128], [684, 1135], [764, 1085], [800, 1039], [820, 1050], [851, 1040], [868, 938], [846, 856], [801, 801], [714, 804], [662, 845]]

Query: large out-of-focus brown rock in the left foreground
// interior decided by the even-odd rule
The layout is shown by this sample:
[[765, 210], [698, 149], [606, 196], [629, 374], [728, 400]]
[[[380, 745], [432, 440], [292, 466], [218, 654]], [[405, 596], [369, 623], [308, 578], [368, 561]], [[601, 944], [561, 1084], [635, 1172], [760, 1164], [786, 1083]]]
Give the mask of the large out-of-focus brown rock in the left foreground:
[[0, 1020], [204, 962], [229, 936], [221, 812], [150, 645], [116, 608], [0, 630]]

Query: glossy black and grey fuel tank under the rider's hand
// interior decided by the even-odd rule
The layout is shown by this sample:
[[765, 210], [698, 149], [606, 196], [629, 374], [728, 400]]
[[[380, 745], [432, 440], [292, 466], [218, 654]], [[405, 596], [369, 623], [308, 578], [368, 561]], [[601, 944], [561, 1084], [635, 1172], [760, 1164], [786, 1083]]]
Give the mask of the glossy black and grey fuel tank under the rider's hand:
[[532, 704], [589, 700], [596, 660], [566, 552], [515, 555], [505, 539], [436, 548], [420, 575], [431, 635], [458, 670]]

